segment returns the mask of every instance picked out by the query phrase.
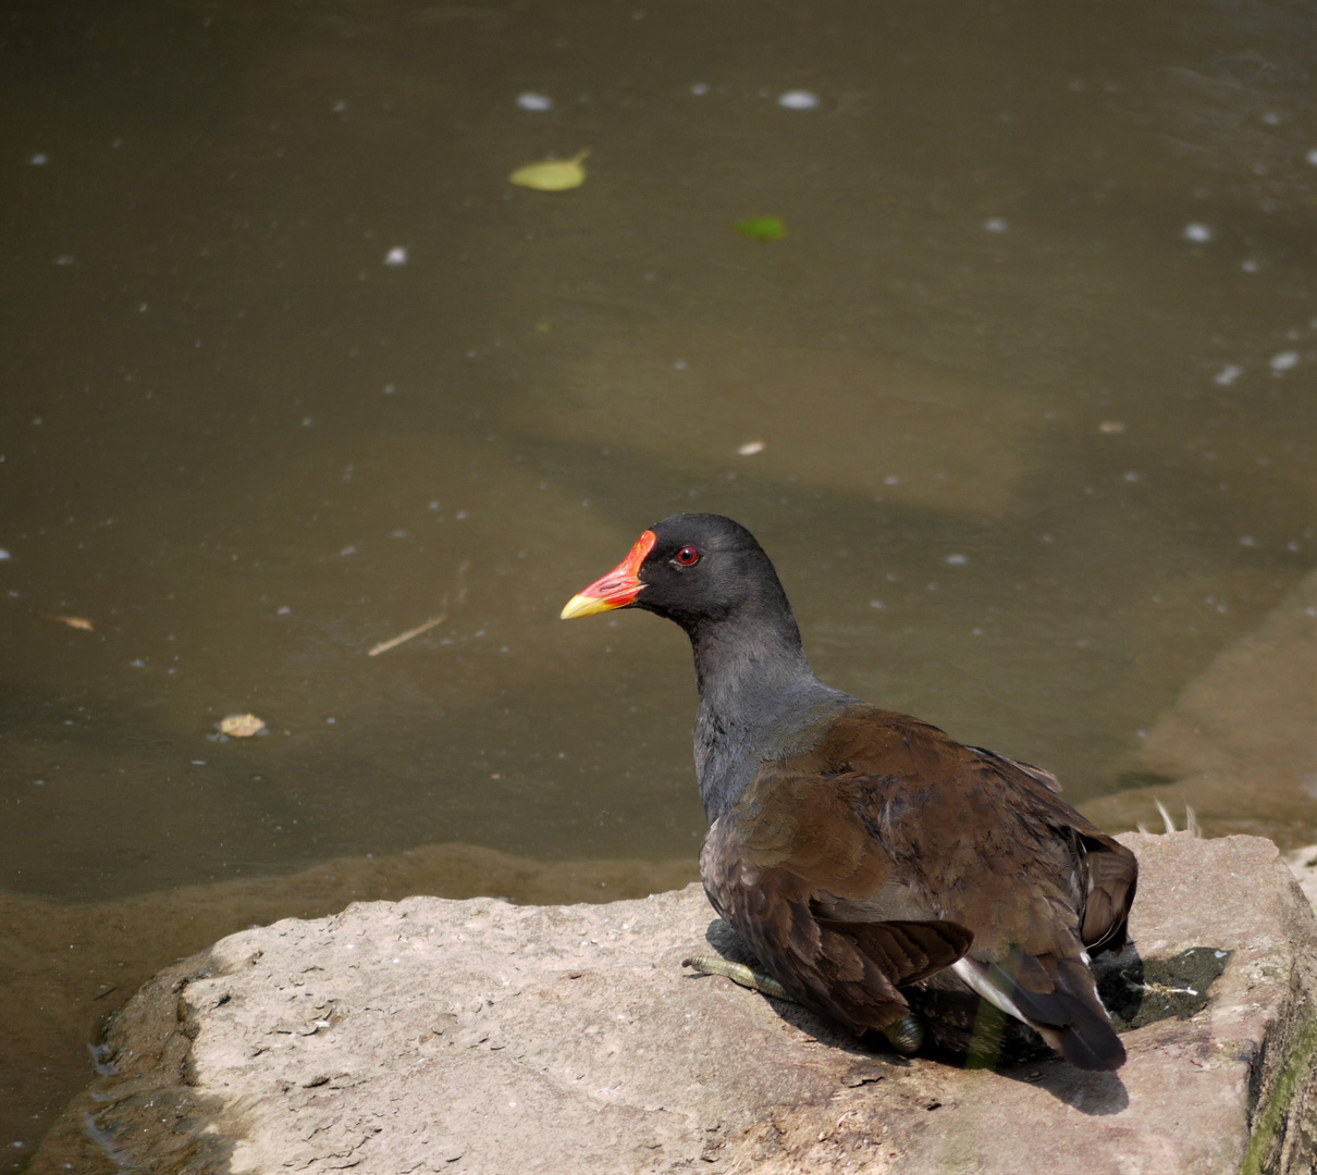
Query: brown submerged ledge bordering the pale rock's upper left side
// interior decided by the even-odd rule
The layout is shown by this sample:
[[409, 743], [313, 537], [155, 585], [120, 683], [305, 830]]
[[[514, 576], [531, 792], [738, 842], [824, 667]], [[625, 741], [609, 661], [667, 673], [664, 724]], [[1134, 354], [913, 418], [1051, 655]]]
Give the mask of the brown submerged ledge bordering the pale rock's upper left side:
[[287, 876], [232, 878], [95, 903], [0, 893], [0, 1145], [30, 1155], [95, 1075], [107, 1016], [179, 958], [253, 922], [316, 918], [411, 893], [520, 904], [643, 897], [699, 876], [685, 861], [557, 861], [425, 845], [327, 861]]

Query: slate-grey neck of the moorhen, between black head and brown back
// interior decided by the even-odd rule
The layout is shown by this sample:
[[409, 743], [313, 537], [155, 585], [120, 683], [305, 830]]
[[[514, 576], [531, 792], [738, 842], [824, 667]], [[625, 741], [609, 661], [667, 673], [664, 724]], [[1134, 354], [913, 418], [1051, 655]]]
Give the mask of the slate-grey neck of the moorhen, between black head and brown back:
[[699, 686], [695, 772], [712, 824], [795, 732], [856, 699], [814, 676], [790, 609], [703, 621], [687, 632]]

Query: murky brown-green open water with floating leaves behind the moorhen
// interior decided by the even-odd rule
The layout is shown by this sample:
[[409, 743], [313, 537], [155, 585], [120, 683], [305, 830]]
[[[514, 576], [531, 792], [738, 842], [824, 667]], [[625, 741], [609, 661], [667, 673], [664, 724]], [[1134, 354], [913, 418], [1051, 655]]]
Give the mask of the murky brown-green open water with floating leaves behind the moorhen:
[[694, 854], [684, 638], [556, 618], [678, 509], [1114, 789], [1313, 562], [1309, 17], [5, 5], [0, 888]]

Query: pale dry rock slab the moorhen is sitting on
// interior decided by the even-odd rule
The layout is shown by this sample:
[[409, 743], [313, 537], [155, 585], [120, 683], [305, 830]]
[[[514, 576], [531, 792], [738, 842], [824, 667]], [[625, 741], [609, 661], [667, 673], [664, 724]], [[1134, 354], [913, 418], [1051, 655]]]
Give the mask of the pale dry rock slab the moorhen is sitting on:
[[1144, 1009], [1175, 996], [1156, 961], [1209, 947], [1225, 970], [1189, 1018], [1142, 1016], [1119, 1074], [902, 1061], [684, 974], [724, 929], [694, 886], [608, 905], [410, 897], [161, 972], [111, 1025], [115, 1072], [30, 1170], [107, 1153], [162, 1172], [1308, 1170], [1309, 904], [1268, 841], [1125, 839]]

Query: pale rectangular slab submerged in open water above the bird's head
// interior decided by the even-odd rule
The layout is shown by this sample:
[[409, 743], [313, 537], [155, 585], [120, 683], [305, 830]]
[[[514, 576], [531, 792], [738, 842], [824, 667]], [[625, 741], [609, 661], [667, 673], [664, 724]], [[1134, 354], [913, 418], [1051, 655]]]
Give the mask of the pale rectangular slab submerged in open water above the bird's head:
[[[757, 220], [741, 221], [744, 232], [772, 234], [773, 217]], [[611, 338], [553, 387], [508, 401], [510, 426], [573, 446], [624, 437], [637, 459], [697, 478], [753, 457], [736, 470], [782, 491], [975, 517], [1015, 501], [1047, 426], [1042, 397], [1019, 387], [892, 351], [795, 346], [707, 324]], [[741, 454], [751, 436], [759, 446]]]

